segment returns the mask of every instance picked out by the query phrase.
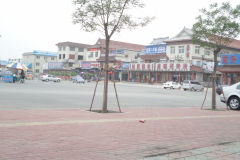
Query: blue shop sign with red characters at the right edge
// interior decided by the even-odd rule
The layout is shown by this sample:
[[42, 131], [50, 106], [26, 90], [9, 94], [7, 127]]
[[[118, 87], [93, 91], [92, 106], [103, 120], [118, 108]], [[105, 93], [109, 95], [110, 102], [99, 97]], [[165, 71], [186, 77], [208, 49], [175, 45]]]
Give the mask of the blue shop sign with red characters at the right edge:
[[239, 65], [240, 54], [222, 54], [221, 65]]

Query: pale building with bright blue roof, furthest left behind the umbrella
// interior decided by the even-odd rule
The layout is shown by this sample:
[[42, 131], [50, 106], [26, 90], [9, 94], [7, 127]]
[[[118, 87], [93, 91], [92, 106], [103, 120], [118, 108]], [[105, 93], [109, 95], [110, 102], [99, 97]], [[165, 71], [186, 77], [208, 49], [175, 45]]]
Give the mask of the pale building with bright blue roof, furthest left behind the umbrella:
[[48, 51], [37, 51], [23, 53], [23, 62], [32, 64], [34, 77], [39, 77], [44, 69], [48, 69], [49, 62], [57, 62], [57, 53]]

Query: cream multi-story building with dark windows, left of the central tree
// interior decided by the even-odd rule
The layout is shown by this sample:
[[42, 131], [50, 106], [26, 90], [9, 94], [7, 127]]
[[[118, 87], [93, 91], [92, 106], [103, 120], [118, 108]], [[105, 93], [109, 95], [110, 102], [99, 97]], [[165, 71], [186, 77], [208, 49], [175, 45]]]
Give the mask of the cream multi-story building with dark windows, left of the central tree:
[[[73, 69], [80, 67], [81, 61], [89, 61], [95, 57], [95, 51], [88, 50], [91, 45], [74, 43], [74, 42], [60, 42], [58, 46], [58, 62], [63, 63], [65, 69]], [[99, 57], [97, 55], [97, 57]]]

